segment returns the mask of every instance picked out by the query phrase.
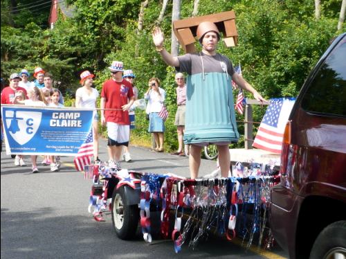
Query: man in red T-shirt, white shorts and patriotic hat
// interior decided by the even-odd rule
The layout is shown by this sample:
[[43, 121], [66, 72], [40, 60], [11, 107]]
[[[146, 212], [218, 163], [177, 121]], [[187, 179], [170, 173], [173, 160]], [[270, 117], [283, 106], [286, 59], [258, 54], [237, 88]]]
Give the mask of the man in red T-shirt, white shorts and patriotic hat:
[[109, 66], [111, 79], [101, 92], [101, 123], [107, 123], [109, 166], [120, 169], [122, 145], [129, 145], [129, 108], [134, 103], [132, 85], [122, 78], [122, 62]]

